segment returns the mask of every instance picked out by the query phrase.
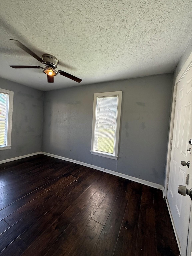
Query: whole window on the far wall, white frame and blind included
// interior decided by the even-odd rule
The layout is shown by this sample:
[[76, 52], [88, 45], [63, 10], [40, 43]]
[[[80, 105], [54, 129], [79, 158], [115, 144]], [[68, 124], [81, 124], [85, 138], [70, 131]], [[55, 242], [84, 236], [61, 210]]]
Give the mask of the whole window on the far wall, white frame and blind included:
[[94, 94], [91, 154], [118, 158], [122, 91]]

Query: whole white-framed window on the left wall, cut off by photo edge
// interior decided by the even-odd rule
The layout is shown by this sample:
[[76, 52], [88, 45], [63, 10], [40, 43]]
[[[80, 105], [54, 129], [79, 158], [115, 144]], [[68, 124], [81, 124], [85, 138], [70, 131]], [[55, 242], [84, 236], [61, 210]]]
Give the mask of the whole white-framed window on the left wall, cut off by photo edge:
[[11, 148], [13, 92], [0, 88], [0, 150]]

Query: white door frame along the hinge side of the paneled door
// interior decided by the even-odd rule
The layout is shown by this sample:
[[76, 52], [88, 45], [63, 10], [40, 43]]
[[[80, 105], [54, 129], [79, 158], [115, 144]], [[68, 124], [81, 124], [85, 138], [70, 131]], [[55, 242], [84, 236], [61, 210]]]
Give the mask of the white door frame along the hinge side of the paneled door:
[[176, 240], [177, 240], [177, 244], [178, 244], [180, 252], [181, 252], [181, 246], [180, 246], [180, 243], [179, 243], [179, 237], [178, 237], [177, 232], [176, 232], [173, 217], [172, 217], [171, 212], [170, 212], [170, 207], [169, 207], [169, 203], [168, 203], [168, 200], [167, 200], [167, 191], [168, 191], [169, 175], [170, 175], [170, 162], [171, 162], [171, 151], [172, 151], [172, 142], [173, 142], [173, 127], [174, 127], [175, 104], [176, 104], [176, 96], [177, 96], [176, 95], [176, 93], [177, 93], [177, 84], [184, 77], [184, 75], [191, 68], [191, 66], [192, 66], [192, 52], [190, 53], [187, 61], [184, 63], [181, 71], [177, 75], [176, 80], [175, 80], [175, 85], [174, 85], [174, 88], [173, 88], [170, 129], [169, 129], [167, 159], [166, 159], [166, 173], [165, 173], [165, 183], [164, 183], [165, 200], [166, 200], [166, 203], [167, 203], [168, 211], [169, 211], [171, 222], [172, 222], [172, 225], [173, 225], [173, 230], [174, 230], [174, 233], [175, 233], [175, 236], [176, 236]]

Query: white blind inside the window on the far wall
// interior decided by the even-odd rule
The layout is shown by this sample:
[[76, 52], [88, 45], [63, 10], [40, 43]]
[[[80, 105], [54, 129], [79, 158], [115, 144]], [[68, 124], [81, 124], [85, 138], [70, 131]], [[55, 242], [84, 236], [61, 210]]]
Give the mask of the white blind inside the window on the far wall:
[[118, 96], [97, 97], [94, 150], [114, 154]]

